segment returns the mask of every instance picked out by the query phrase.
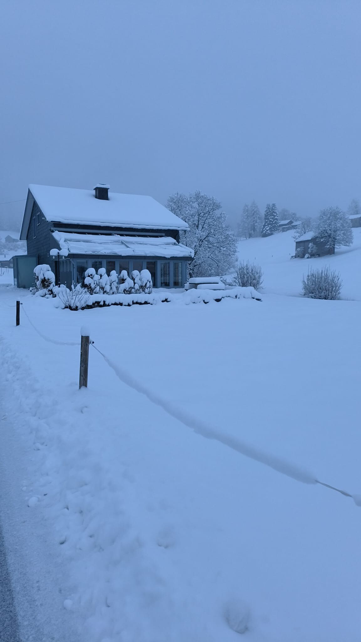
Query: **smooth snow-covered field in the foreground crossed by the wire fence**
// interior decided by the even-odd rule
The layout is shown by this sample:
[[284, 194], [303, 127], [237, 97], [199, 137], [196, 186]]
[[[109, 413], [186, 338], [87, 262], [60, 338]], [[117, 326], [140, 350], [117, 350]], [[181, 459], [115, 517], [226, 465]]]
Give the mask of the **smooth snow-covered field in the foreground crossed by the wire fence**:
[[[221, 442], [360, 492], [361, 302], [266, 293], [71, 312], [0, 297], [1, 502], [14, 577], [27, 542], [16, 601], [23, 627], [40, 620], [37, 642], [231, 642], [245, 628], [253, 642], [360, 640], [360, 509]], [[136, 386], [219, 440], [92, 347], [79, 391], [82, 325]]]

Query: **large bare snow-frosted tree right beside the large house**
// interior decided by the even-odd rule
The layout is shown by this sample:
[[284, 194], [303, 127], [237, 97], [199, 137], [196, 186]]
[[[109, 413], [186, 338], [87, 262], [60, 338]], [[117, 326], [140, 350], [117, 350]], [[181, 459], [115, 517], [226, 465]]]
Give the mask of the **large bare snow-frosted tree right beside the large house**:
[[189, 276], [219, 276], [229, 272], [236, 259], [237, 241], [220, 202], [196, 191], [189, 196], [173, 194], [166, 207], [189, 225], [189, 230], [180, 232], [181, 243], [194, 250]]

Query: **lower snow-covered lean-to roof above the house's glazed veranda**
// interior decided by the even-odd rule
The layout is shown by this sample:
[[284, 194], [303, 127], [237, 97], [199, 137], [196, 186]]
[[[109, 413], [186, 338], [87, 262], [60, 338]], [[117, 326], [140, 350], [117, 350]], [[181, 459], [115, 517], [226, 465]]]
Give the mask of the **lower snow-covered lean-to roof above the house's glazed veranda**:
[[169, 236], [119, 236], [118, 234], [76, 234], [53, 232], [61, 249], [69, 254], [105, 254], [114, 256], [159, 256], [189, 258], [193, 250]]

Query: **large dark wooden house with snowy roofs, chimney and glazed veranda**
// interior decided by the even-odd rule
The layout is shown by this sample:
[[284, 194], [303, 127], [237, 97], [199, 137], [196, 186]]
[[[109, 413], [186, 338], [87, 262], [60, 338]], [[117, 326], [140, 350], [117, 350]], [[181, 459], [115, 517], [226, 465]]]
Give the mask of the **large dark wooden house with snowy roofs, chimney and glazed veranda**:
[[[151, 198], [109, 191], [30, 185], [21, 239], [57, 282], [83, 282], [88, 268], [149, 270], [155, 288], [180, 288], [193, 250], [179, 243], [188, 223]], [[55, 261], [51, 250], [60, 250]]]

